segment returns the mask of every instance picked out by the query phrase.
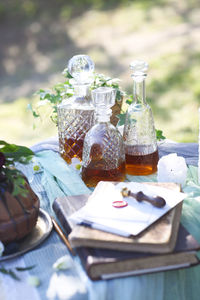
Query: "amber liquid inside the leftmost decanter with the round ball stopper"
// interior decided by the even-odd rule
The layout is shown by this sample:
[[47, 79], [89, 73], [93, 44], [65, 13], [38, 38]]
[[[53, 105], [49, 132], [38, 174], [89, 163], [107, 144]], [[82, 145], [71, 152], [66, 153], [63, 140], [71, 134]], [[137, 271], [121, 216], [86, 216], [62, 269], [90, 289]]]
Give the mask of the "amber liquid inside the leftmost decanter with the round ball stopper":
[[63, 145], [64, 152], [61, 154], [61, 156], [68, 164], [71, 164], [72, 158], [74, 157], [82, 161], [83, 141], [83, 138], [65, 138]]

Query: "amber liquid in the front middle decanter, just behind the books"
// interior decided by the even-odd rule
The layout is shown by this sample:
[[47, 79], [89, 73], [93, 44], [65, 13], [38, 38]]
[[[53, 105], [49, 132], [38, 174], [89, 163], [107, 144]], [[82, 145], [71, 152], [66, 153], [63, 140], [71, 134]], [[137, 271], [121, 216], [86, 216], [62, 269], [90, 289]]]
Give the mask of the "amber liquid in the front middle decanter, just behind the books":
[[82, 179], [88, 187], [95, 187], [99, 181], [124, 181], [125, 163], [111, 170], [82, 167]]

